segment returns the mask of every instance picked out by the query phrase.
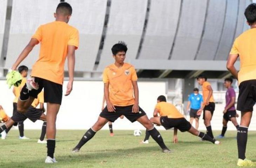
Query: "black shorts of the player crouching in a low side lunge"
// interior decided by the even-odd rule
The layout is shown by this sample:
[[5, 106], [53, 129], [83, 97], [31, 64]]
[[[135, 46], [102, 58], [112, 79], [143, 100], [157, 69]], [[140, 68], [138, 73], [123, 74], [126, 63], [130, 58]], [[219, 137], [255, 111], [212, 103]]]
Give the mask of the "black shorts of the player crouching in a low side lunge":
[[191, 124], [185, 118], [168, 118], [164, 116], [160, 117], [160, 123], [166, 130], [174, 127], [181, 132], [185, 132], [191, 128]]

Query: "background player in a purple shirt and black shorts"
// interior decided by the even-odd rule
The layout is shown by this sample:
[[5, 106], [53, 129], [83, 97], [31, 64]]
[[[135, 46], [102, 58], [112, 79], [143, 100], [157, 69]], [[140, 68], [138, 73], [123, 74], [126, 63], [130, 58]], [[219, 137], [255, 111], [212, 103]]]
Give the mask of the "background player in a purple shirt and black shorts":
[[225, 137], [225, 132], [227, 131], [227, 124], [228, 121], [231, 121], [234, 126], [236, 127], [236, 129], [239, 128], [239, 125], [236, 121], [236, 117], [238, 117], [238, 114], [236, 113], [236, 107], [235, 107], [235, 103], [236, 103], [236, 92], [234, 90], [234, 88], [232, 87], [232, 82], [233, 79], [232, 78], [225, 78], [224, 79], [224, 86], [228, 89], [226, 91], [226, 105], [223, 111], [223, 127], [222, 127], [222, 131], [221, 134], [218, 135], [216, 138], [224, 138]]

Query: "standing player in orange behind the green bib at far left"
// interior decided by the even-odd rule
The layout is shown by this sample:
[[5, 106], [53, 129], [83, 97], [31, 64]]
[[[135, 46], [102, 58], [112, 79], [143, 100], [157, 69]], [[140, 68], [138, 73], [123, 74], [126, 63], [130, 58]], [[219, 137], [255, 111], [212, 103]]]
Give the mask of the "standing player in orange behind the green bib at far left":
[[[18, 113], [17, 111], [17, 103], [18, 103], [18, 99], [20, 97], [20, 90], [21, 88], [25, 85], [25, 83], [27, 82], [27, 75], [28, 75], [28, 67], [25, 65], [21, 65], [18, 68], [18, 71], [20, 72], [21, 76], [22, 76], [22, 82], [21, 85], [19, 85], [18, 87], [13, 86], [13, 94], [15, 96], [14, 100], [13, 100], [13, 115], [15, 113]], [[18, 128], [19, 128], [19, 132], [20, 132], [20, 137], [19, 139], [29, 139], [24, 135], [24, 124], [23, 121], [19, 122], [19, 123], [15, 123], [14, 126], [16, 126], [18, 124]], [[6, 134], [8, 133], [8, 130], [6, 131]]]

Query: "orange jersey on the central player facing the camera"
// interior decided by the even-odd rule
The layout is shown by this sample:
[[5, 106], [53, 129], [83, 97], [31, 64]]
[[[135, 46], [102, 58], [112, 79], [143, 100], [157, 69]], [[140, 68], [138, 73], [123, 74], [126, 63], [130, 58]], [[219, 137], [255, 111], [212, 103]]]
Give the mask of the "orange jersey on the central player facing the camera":
[[103, 82], [109, 83], [109, 100], [115, 106], [129, 106], [135, 103], [132, 80], [137, 80], [133, 65], [124, 63], [121, 68], [115, 64], [103, 71]]

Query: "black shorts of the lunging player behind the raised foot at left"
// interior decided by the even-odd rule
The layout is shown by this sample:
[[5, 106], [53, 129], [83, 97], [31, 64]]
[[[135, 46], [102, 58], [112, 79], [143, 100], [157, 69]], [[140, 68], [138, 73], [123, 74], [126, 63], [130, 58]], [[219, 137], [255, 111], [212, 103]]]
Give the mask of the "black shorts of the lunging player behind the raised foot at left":
[[42, 113], [42, 110], [30, 106], [25, 114], [17, 112], [11, 117], [11, 119], [17, 123], [20, 123], [21, 121], [24, 121], [28, 118], [29, 120], [35, 123], [36, 120], [40, 119]]

